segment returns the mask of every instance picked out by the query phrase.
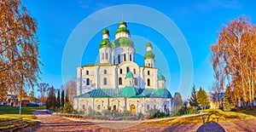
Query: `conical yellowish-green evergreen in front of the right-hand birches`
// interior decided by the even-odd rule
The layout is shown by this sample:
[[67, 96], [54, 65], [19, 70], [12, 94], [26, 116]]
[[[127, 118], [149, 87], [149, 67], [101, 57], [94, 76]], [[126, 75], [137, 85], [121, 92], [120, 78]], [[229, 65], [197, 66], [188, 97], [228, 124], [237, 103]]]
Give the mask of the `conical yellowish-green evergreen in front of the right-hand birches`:
[[234, 99], [234, 94], [230, 87], [227, 87], [224, 93], [223, 106], [224, 111], [231, 111], [236, 107], [236, 100]]

